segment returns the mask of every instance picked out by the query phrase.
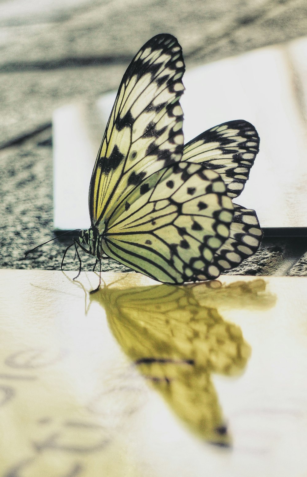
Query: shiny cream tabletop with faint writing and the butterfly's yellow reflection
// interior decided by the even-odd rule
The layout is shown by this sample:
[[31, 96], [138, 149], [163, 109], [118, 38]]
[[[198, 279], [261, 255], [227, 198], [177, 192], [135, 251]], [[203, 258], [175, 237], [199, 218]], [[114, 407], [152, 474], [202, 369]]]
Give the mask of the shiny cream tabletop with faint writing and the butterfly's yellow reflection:
[[1, 270], [0, 476], [302, 476], [307, 278]]

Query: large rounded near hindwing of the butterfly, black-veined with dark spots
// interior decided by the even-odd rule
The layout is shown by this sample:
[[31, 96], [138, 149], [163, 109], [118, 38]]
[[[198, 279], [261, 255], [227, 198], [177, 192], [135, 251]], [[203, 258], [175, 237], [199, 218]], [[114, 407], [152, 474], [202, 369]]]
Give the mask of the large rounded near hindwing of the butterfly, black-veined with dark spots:
[[232, 220], [221, 177], [180, 162], [147, 177], [122, 199], [108, 218], [102, 248], [155, 280], [206, 280], [203, 269], [228, 239]]

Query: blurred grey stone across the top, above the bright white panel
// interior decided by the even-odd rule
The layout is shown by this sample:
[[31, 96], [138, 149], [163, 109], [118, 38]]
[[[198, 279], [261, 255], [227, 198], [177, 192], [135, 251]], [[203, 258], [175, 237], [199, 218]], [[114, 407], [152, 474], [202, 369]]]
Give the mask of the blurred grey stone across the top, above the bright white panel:
[[50, 122], [56, 106], [116, 89], [157, 33], [178, 37], [187, 68], [307, 34], [304, 0], [93, 0], [75, 10], [66, 0], [61, 11], [2, 13], [0, 147]]

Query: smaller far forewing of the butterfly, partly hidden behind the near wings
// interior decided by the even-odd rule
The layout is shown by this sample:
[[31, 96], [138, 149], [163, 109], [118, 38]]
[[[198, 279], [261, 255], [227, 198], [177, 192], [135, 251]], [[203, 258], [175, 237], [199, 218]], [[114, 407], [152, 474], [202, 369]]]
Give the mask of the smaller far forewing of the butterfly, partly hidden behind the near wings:
[[259, 136], [254, 126], [238, 120], [219, 124], [184, 146], [182, 160], [205, 164], [218, 172], [229, 197], [244, 188], [250, 168], [259, 152]]

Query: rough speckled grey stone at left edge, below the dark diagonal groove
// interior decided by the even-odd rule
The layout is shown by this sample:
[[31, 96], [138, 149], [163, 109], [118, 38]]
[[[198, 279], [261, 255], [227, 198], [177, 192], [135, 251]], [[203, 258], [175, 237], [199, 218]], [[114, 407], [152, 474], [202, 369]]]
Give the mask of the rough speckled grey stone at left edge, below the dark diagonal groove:
[[[55, 240], [27, 258], [25, 252], [53, 238], [53, 170], [51, 128], [22, 145], [0, 151], [1, 267], [60, 270], [63, 251], [71, 239]], [[65, 260], [66, 270], [77, 270], [73, 252]], [[85, 269], [95, 259], [82, 256]], [[104, 261], [106, 270], [127, 270]]]

